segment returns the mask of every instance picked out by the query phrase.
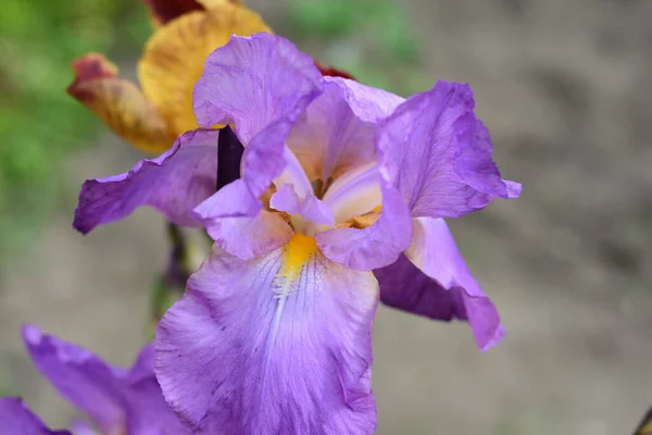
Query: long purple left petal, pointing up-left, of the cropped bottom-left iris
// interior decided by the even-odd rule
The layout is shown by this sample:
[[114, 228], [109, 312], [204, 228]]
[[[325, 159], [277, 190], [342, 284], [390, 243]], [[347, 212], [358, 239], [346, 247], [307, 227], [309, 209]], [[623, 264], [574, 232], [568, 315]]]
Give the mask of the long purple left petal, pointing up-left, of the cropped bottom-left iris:
[[104, 433], [124, 427], [126, 415], [115, 382], [124, 372], [88, 350], [43, 335], [36, 326], [25, 326], [23, 339], [34, 364], [61, 396], [87, 413]]

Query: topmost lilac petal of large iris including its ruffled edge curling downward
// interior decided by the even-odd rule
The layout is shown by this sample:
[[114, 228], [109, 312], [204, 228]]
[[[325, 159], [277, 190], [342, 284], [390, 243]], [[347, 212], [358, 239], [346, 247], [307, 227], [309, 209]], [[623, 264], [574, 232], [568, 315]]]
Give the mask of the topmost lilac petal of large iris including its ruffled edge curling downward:
[[287, 39], [268, 34], [234, 37], [209, 57], [195, 89], [198, 121], [235, 123], [246, 147], [242, 177], [196, 209], [210, 234], [221, 219], [249, 219], [261, 212], [259, 198], [284, 174], [292, 157], [286, 138], [322, 91], [322, 79], [308, 55]]

